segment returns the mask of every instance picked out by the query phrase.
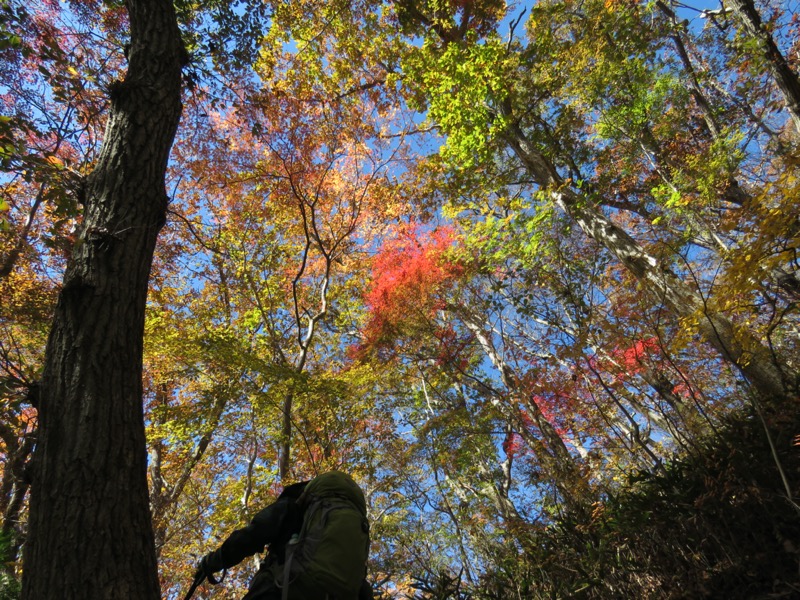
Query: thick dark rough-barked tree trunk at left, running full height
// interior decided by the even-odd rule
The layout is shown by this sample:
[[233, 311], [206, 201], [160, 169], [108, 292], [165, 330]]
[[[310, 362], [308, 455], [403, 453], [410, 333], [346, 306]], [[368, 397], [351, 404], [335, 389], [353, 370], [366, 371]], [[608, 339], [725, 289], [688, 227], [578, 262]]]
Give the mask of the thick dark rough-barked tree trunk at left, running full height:
[[128, 0], [129, 68], [47, 343], [25, 600], [160, 597], [148, 506], [142, 338], [186, 52], [168, 0]]

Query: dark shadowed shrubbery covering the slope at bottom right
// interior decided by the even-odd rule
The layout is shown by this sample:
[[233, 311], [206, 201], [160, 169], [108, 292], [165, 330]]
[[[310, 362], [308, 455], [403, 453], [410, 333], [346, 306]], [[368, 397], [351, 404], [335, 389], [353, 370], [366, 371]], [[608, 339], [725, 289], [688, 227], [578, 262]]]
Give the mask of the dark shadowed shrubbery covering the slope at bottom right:
[[[795, 498], [799, 425], [770, 423]], [[498, 557], [476, 598], [800, 597], [800, 510], [755, 417], [632, 477], [590, 516], [567, 514], [525, 539], [523, 553]]]

